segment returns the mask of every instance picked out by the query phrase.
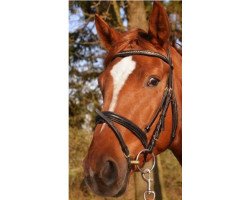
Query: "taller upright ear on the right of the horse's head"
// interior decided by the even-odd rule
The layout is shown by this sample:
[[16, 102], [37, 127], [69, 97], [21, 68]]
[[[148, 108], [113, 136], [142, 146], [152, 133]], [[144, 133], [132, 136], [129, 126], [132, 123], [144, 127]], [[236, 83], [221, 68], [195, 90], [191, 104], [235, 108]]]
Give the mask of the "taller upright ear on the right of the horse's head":
[[168, 48], [171, 27], [167, 12], [163, 6], [155, 1], [149, 18], [149, 35], [164, 49]]

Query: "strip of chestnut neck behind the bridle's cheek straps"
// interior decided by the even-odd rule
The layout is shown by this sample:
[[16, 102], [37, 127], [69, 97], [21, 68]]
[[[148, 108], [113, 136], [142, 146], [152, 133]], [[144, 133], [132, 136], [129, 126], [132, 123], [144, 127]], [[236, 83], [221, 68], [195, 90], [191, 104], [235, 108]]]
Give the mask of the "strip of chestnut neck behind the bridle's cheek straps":
[[182, 58], [175, 49], [171, 50], [174, 64], [174, 92], [178, 106], [178, 127], [175, 139], [170, 146], [173, 154], [182, 163]]

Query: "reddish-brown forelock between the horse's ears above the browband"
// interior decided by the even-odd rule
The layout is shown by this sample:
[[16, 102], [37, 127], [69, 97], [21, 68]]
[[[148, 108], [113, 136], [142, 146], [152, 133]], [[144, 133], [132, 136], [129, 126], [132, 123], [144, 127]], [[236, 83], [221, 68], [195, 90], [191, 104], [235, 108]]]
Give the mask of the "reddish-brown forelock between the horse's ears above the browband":
[[118, 41], [115, 42], [113, 48], [108, 52], [104, 65], [107, 66], [113, 59], [114, 55], [124, 50], [150, 50], [158, 51], [166, 54], [161, 46], [154, 41], [154, 39], [142, 29], [131, 29], [130, 31], [120, 33]]

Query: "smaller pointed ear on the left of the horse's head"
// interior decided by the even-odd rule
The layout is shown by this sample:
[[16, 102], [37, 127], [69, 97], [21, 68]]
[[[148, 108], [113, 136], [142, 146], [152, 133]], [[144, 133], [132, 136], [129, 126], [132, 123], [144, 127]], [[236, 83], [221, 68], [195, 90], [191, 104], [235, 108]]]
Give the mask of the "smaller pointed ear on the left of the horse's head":
[[95, 25], [97, 34], [101, 40], [102, 45], [110, 50], [112, 45], [119, 38], [119, 33], [111, 28], [99, 15], [95, 15]]

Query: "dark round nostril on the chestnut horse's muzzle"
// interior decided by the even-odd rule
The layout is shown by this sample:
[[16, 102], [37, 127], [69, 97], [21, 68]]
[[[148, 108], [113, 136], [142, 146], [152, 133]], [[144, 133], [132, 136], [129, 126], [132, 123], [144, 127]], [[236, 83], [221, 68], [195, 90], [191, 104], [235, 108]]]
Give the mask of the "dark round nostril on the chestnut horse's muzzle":
[[103, 180], [105, 185], [112, 185], [116, 181], [117, 175], [118, 172], [115, 162], [111, 160], [106, 161], [100, 171], [100, 178]]

